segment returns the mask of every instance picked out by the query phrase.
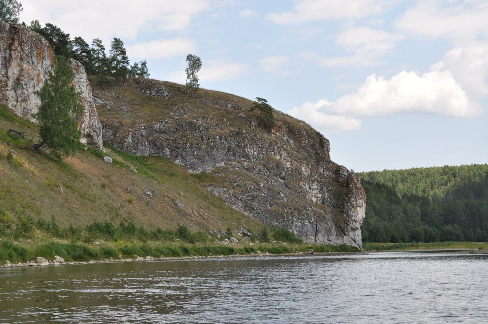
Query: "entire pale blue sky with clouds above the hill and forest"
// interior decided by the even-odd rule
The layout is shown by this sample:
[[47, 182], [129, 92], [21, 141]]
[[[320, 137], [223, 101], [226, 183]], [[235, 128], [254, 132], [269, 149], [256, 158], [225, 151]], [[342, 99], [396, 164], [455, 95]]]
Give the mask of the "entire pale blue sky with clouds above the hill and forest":
[[202, 88], [268, 99], [355, 171], [488, 161], [488, 1], [20, 2], [27, 24], [122, 39], [154, 79], [184, 84], [198, 55]]

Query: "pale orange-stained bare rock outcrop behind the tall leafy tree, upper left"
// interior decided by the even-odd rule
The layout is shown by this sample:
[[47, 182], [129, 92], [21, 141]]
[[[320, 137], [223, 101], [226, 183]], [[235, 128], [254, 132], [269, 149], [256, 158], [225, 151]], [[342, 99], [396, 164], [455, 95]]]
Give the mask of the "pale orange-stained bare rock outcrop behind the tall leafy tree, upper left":
[[[53, 51], [41, 35], [19, 24], [0, 21], [0, 104], [35, 122], [41, 103], [35, 91], [41, 89], [53, 66]], [[71, 66], [75, 71], [73, 85], [84, 107], [81, 141], [101, 149], [102, 126], [86, 72], [75, 60], [71, 60]]]

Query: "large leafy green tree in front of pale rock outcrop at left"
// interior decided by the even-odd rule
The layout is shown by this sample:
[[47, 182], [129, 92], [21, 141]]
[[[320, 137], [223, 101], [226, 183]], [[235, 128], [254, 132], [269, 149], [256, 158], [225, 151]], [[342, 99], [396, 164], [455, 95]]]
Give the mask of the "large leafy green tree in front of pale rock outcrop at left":
[[73, 156], [81, 139], [78, 121], [83, 113], [80, 93], [72, 85], [75, 72], [68, 59], [57, 56], [54, 72], [50, 72], [36, 95], [41, 101], [36, 118], [39, 122], [41, 143], [35, 149], [47, 146], [57, 158]]

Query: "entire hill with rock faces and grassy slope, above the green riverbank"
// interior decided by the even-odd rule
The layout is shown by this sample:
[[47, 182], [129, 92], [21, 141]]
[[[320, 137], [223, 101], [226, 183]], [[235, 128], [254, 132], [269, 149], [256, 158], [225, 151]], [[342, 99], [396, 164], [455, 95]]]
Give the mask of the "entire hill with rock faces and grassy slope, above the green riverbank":
[[[52, 49], [18, 24], [0, 32], [0, 104], [35, 122], [34, 92], [53, 68]], [[93, 88], [83, 66], [71, 62], [83, 94], [83, 142], [104, 151], [84, 147], [65, 162], [33, 152], [35, 124], [4, 109], [4, 214], [204, 231], [268, 225], [307, 243], [361, 248], [359, 175], [332, 162], [329, 141], [305, 122], [273, 110], [276, 125], [268, 129], [250, 111], [253, 101], [205, 89], [193, 96], [165, 81], [108, 78]], [[10, 127], [29, 140], [8, 135]]]

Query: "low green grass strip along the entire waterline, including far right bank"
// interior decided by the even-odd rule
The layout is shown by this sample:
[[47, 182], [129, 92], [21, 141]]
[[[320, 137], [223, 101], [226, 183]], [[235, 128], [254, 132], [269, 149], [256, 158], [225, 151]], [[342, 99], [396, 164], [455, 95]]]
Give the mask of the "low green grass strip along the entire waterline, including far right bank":
[[[291, 244], [286, 242], [205, 243], [183, 242], [92, 242], [67, 243], [53, 239], [49, 243], [32, 240], [0, 241], [0, 268], [20, 268], [48, 265], [75, 265], [119, 263], [153, 260], [185, 260], [270, 255], [324, 255], [337, 253], [385, 252], [385, 251], [452, 251], [470, 254], [488, 254], [488, 243], [435, 242], [435, 243], [364, 243], [358, 250], [346, 244], [317, 245]], [[177, 240], [179, 241], [179, 240]], [[8, 259], [7, 259], [8, 258]]]

